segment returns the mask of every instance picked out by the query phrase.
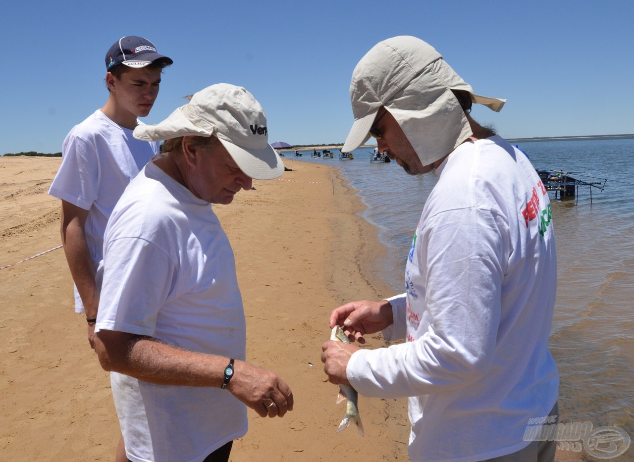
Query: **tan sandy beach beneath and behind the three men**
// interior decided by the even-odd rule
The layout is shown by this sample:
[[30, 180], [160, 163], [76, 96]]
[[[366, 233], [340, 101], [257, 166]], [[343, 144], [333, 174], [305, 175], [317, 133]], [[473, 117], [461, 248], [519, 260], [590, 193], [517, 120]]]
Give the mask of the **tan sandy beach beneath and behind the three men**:
[[[119, 424], [108, 373], [73, 309], [60, 245], [60, 203], [48, 196], [60, 158], [0, 157], [0, 459], [113, 460]], [[375, 263], [377, 231], [339, 170], [284, 159], [292, 172], [216, 207], [236, 255], [247, 359], [278, 373], [295, 409], [249, 411], [231, 461], [407, 460], [406, 400], [359, 397], [365, 437], [335, 430], [344, 404], [320, 361], [328, 315], [349, 300], [391, 295]], [[380, 347], [375, 336], [369, 347]], [[313, 366], [311, 367], [311, 364]], [[222, 418], [223, 416], [210, 416]], [[564, 451], [557, 460], [578, 460]]]

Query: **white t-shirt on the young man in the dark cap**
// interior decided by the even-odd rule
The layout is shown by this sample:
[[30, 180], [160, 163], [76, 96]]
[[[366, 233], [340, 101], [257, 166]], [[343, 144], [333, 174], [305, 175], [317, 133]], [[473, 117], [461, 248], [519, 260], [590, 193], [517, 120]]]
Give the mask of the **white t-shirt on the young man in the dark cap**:
[[[132, 132], [96, 110], [66, 136], [60, 170], [48, 191], [51, 196], [88, 210], [86, 242], [95, 271], [115, 203], [143, 165], [159, 152], [160, 143], [139, 141]], [[77, 287], [75, 311], [84, 312]]]

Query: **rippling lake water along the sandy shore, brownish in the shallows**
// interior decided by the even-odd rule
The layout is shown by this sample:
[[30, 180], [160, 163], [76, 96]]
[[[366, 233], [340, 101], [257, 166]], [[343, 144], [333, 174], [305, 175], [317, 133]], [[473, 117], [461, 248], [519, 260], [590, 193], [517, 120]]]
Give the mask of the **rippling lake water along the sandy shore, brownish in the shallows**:
[[[537, 169], [564, 170], [605, 189], [580, 186], [574, 199], [551, 195], [558, 288], [550, 349], [560, 373], [563, 421], [617, 425], [634, 439], [634, 139], [514, 143]], [[339, 167], [389, 248], [382, 274], [403, 292], [404, 263], [434, 174], [408, 176], [396, 162], [371, 163], [372, 148], [354, 160], [288, 158]], [[387, 294], [386, 294], [387, 295]], [[631, 454], [630, 451], [627, 454]], [[626, 457], [627, 454], [621, 457]]]

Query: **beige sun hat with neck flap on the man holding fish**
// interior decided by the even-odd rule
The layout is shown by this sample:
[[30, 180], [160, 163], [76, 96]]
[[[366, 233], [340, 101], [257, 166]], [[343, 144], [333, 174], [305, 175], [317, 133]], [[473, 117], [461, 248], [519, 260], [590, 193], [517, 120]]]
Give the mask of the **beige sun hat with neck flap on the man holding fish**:
[[354, 124], [342, 147], [350, 152], [370, 139], [381, 106], [394, 116], [423, 165], [453, 151], [472, 135], [452, 89], [499, 112], [506, 99], [475, 94], [427, 42], [401, 35], [373, 46], [356, 65], [350, 84]]

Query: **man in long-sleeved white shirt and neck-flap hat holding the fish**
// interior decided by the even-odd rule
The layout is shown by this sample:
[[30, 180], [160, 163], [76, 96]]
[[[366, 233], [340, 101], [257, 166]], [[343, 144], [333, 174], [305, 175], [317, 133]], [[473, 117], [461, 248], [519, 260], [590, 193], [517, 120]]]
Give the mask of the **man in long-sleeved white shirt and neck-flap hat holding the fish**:
[[[330, 327], [367, 350], [323, 345], [330, 382], [409, 399], [415, 461], [552, 461], [556, 441], [525, 440], [529, 420], [557, 422], [559, 375], [548, 350], [557, 281], [548, 194], [527, 157], [470, 117], [503, 99], [474, 93], [415, 37], [378, 43], [351, 82], [355, 121], [342, 148], [370, 136], [412, 175], [434, 172], [406, 262], [405, 292], [342, 305]], [[413, 204], [422, 198], [406, 197]]]

